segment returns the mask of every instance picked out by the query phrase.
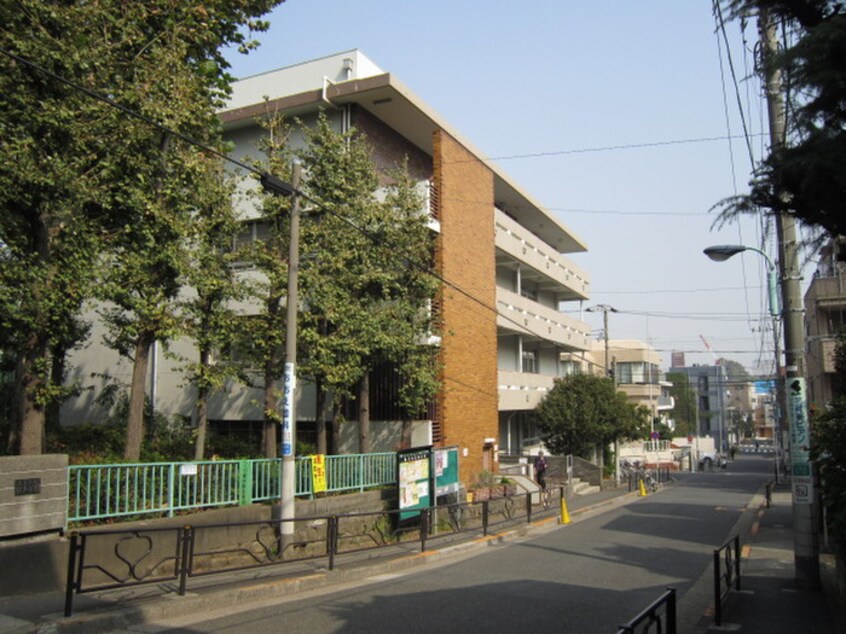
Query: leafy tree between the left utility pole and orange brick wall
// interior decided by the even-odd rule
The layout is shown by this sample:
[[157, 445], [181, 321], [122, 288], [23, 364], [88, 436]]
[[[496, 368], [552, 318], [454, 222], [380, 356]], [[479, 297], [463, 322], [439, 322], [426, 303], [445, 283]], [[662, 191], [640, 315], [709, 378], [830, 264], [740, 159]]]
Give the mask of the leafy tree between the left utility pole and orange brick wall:
[[[433, 235], [404, 165], [377, 173], [364, 136], [333, 131], [325, 116], [305, 136], [304, 188], [318, 204], [307, 212], [315, 219], [302, 233], [312, 257], [301, 275], [300, 367], [319, 397], [357, 394], [360, 451], [367, 453], [373, 369], [394, 368], [409, 416], [437, 391], [433, 353], [421, 345], [431, 331], [428, 305], [438, 287], [429, 273]], [[318, 429], [322, 448], [325, 425]]]

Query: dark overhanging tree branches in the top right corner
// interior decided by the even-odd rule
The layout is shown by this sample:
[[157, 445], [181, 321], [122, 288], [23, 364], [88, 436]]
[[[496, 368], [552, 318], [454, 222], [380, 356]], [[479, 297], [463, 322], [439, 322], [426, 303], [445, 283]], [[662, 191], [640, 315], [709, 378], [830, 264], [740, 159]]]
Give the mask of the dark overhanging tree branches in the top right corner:
[[788, 139], [753, 174], [750, 193], [720, 203], [722, 220], [789, 213], [831, 235], [846, 234], [846, 5], [839, 0], [730, 0], [733, 17], [758, 7], [792, 37], [774, 60], [788, 89]]

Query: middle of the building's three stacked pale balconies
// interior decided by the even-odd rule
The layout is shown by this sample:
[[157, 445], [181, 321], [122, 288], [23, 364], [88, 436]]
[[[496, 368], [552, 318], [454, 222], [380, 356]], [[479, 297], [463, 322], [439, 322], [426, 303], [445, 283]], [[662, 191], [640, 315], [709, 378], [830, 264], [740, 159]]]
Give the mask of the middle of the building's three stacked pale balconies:
[[567, 350], [590, 348], [590, 326], [517, 293], [496, 289], [497, 328], [527, 341], [548, 341]]

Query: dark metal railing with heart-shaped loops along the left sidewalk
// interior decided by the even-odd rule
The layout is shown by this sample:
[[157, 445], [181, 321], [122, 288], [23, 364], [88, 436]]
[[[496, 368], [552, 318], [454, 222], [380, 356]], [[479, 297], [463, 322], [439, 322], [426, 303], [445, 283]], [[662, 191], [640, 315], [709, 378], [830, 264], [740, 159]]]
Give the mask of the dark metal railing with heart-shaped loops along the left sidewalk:
[[[563, 495], [563, 489], [559, 492]], [[532, 498], [524, 493], [424, 508], [410, 520], [402, 520], [401, 513], [72, 531], [64, 613], [71, 616], [77, 594], [176, 581], [176, 592], [183, 596], [193, 577], [313, 559], [325, 559], [332, 570], [338, 556], [390, 546], [425, 552], [431, 539], [464, 532], [487, 535], [491, 526], [506, 522], [531, 523]], [[286, 522], [294, 523], [287, 534]]]

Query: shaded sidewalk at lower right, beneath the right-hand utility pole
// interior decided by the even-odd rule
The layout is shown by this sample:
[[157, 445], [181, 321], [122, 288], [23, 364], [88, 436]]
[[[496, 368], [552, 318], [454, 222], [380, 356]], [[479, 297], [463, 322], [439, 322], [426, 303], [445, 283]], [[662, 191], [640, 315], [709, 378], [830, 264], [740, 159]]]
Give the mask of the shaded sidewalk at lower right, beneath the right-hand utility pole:
[[820, 557], [822, 589], [805, 590], [796, 584], [793, 548], [790, 484], [781, 483], [773, 491], [770, 508], [758, 511], [749, 542], [742, 544], [741, 589], [732, 591], [726, 599], [722, 625], [713, 625], [713, 614], [709, 613], [697, 631], [846, 634], [846, 606], [834, 601], [833, 556]]

